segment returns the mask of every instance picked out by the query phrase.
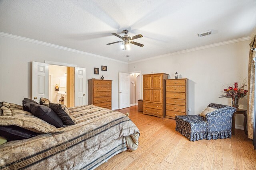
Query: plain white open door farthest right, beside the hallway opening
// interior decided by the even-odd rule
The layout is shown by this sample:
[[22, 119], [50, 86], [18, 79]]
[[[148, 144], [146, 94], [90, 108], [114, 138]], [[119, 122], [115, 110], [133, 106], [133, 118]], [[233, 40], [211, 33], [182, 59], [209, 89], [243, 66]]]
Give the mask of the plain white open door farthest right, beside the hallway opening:
[[119, 73], [119, 109], [130, 107], [130, 74]]

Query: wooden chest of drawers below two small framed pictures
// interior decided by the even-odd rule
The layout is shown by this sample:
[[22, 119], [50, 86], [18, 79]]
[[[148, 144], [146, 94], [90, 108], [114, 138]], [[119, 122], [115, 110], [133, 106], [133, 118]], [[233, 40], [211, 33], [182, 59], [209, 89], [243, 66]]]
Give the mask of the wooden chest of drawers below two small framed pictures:
[[112, 80], [88, 80], [88, 104], [111, 109]]

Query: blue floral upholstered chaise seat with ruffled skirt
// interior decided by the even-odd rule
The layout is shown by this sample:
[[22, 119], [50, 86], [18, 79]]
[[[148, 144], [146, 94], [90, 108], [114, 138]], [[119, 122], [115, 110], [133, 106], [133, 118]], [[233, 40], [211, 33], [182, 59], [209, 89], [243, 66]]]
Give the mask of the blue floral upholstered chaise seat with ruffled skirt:
[[205, 117], [200, 115], [176, 116], [175, 130], [190, 141], [231, 138], [232, 115], [236, 108], [213, 103], [208, 107], [217, 110], [207, 113]]

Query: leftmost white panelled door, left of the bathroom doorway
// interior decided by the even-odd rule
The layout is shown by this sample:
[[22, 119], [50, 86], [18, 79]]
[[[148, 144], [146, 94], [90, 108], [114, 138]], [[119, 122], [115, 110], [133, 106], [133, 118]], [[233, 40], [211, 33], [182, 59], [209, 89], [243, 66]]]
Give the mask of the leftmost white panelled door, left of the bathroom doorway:
[[32, 99], [49, 97], [49, 64], [32, 62]]

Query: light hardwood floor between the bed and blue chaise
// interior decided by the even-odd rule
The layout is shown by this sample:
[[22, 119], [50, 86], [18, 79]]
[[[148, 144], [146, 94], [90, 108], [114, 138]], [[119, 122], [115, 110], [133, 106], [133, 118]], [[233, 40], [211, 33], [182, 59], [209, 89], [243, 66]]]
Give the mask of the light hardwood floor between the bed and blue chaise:
[[143, 115], [137, 106], [129, 112], [140, 130], [137, 150], [124, 151], [97, 170], [256, 170], [256, 150], [244, 131], [231, 139], [189, 141], [175, 131], [175, 120]]

